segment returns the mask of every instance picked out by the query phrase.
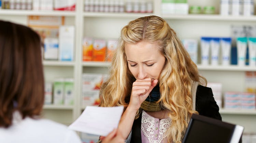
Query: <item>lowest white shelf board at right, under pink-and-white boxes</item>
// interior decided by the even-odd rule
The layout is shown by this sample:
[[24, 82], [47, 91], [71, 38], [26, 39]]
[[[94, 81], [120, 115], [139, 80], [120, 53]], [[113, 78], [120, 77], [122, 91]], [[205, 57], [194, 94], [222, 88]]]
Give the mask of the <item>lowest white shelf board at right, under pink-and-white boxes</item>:
[[256, 115], [255, 109], [220, 109], [221, 114], [236, 114], [236, 115]]

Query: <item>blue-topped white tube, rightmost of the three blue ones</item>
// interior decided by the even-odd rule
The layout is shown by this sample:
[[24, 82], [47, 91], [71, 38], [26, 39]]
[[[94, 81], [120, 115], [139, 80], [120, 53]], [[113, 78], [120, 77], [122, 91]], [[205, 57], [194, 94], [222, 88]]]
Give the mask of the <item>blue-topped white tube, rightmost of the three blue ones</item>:
[[230, 65], [231, 38], [221, 38], [222, 65]]

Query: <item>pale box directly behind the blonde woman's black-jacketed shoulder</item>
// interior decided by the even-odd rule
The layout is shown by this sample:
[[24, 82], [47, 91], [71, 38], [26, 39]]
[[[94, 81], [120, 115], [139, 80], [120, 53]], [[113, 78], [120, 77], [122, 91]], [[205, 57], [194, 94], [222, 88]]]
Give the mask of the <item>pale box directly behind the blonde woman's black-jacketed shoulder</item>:
[[222, 108], [222, 84], [207, 83], [207, 87], [212, 89], [214, 100], [216, 101], [219, 108]]

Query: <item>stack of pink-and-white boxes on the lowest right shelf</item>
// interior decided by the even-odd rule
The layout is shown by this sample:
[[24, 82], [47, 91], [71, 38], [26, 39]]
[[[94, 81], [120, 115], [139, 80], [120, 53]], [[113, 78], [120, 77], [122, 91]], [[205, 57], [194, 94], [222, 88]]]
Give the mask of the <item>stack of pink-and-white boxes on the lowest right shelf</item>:
[[255, 93], [226, 92], [224, 103], [227, 109], [255, 109]]

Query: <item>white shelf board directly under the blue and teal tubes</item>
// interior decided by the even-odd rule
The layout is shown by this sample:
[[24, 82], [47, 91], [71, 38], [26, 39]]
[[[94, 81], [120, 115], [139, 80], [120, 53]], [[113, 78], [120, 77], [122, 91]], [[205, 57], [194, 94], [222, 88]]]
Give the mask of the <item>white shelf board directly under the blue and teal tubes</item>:
[[215, 71], [256, 71], [256, 66], [212, 66], [212, 65], [197, 65], [198, 70], [215, 70]]

